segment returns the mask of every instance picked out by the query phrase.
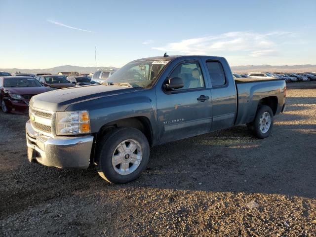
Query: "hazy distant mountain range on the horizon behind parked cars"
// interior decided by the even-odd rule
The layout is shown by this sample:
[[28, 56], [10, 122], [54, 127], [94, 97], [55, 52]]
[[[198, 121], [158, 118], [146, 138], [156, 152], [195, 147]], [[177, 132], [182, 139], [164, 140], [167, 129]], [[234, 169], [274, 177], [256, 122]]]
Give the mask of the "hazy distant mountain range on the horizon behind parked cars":
[[[107, 70], [107, 69], [118, 69], [116, 67], [97, 67], [97, 70]], [[237, 73], [247, 73], [247, 72], [316, 72], [316, 65], [304, 64], [304, 65], [283, 65], [283, 66], [273, 66], [273, 65], [245, 65], [245, 66], [232, 66], [233, 72]], [[51, 73], [56, 74], [59, 72], [79, 72], [79, 73], [93, 73], [95, 72], [95, 67], [79, 67], [64, 65], [54, 68], [46, 69], [19, 69], [19, 68], [0, 68], [0, 71], [15, 73]]]

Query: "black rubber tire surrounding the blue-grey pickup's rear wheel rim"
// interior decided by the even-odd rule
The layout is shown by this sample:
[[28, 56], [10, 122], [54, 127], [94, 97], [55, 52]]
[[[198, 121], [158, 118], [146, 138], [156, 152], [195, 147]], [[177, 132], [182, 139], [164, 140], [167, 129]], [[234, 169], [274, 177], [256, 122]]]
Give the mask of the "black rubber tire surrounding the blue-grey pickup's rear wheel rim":
[[[270, 126], [266, 132], [263, 132], [260, 129], [260, 118], [263, 116], [264, 113], [268, 113], [270, 115]], [[247, 124], [248, 125], [248, 124]], [[263, 139], [270, 136], [273, 128], [273, 112], [269, 106], [262, 105], [258, 108], [256, 117], [253, 122], [249, 124], [249, 127], [252, 129], [252, 133], [255, 137]]]

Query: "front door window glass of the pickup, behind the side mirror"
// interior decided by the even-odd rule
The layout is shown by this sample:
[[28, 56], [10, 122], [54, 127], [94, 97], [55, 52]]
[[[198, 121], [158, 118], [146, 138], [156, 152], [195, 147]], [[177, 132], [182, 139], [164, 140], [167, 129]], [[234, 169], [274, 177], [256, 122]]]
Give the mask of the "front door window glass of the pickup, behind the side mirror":
[[170, 78], [181, 78], [184, 86], [180, 89], [193, 89], [205, 86], [201, 68], [198, 63], [183, 63], [170, 74]]

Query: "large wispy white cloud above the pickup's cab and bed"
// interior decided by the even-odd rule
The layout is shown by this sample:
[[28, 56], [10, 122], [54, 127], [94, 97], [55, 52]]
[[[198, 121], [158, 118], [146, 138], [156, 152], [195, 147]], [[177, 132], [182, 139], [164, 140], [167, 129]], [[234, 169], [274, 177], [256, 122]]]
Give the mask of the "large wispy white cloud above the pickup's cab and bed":
[[277, 39], [292, 35], [290, 32], [227, 32], [216, 36], [207, 36], [170, 42], [162, 47], [152, 47], [164, 52], [181, 54], [213, 54], [214, 52], [247, 52], [252, 57], [273, 56], [277, 54]]

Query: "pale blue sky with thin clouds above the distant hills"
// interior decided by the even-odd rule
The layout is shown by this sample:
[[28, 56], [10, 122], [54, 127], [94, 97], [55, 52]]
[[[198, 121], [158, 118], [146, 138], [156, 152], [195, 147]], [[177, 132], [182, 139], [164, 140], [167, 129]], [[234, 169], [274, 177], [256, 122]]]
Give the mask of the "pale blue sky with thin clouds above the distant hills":
[[0, 0], [0, 68], [163, 55], [316, 64], [316, 0]]

